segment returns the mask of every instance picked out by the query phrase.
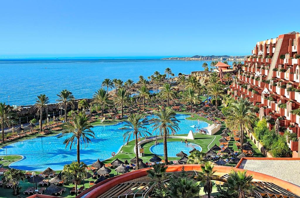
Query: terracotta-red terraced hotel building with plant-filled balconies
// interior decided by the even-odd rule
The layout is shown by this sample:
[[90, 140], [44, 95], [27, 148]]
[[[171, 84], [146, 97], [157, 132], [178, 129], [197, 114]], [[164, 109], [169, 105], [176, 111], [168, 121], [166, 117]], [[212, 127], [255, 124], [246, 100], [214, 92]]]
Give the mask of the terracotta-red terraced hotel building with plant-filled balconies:
[[[230, 86], [232, 97], [249, 98], [259, 107], [257, 116], [269, 120], [269, 129], [281, 135], [287, 129], [299, 138], [300, 116], [291, 113], [300, 108], [299, 32], [257, 42], [244, 64]], [[298, 141], [287, 140], [287, 144], [293, 157], [300, 157]]]

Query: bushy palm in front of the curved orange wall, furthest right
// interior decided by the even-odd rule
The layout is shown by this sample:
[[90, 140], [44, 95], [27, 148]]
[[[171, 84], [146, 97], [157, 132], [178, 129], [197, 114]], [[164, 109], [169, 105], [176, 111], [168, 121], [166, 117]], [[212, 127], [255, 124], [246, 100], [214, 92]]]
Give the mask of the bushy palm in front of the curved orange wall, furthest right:
[[231, 170], [227, 179], [228, 193], [238, 198], [245, 198], [256, 189], [252, 185], [253, 176], [247, 176], [247, 170], [235, 172]]

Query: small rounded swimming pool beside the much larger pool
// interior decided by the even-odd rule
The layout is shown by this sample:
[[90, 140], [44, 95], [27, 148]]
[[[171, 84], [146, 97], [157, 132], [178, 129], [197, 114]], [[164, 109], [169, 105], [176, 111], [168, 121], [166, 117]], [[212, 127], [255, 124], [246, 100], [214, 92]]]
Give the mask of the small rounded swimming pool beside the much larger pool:
[[[183, 140], [184, 141], [184, 140]], [[177, 157], [176, 154], [183, 151], [185, 154], [190, 155], [189, 151], [193, 149], [197, 149], [198, 151], [202, 151], [201, 146], [194, 143], [181, 143], [181, 142], [167, 142], [168, 147], [168, 157]], [[164, 156], [164, 143], [158, 143], [158, 145], [152, 145], [150, 147], [150, 152]]]

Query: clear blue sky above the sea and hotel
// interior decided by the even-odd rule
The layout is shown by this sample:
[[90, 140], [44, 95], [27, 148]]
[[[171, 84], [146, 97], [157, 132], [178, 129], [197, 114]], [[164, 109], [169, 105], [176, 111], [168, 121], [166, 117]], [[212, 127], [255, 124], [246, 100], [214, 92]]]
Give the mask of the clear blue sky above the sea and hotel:
[[1, 1], [0, 57], [245, 55], [257, 41], [299, 32], [299, 4]]

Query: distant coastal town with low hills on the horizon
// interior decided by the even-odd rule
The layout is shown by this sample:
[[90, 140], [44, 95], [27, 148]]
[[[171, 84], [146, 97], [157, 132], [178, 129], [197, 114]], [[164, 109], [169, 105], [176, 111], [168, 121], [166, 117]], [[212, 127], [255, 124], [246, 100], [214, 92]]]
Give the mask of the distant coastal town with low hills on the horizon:
[[162, 58], [164, 60], [186, 60], [186, 61], [245, 61], [247, 55], [243, 56], [229, 56], [229, 55], [210, 55], [210, 56], [202, 56], [195, 55], [192, 57], [168, 57]]

